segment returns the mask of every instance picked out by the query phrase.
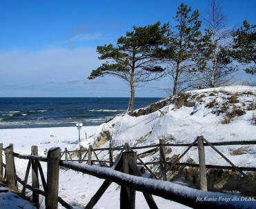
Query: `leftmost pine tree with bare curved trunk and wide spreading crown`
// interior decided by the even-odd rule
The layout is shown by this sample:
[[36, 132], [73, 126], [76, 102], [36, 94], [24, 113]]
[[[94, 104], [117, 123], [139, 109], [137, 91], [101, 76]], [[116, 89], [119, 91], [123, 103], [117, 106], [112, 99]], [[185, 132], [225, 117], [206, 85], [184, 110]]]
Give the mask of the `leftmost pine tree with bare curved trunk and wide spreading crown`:
[[150, 26], [135, 27], [132, 32], [126, 32], [126, 37], [117, 39], [117, 45], [97, 46], [99, 59], [106, 61], [96, 70], [92, 70], [88, 79], [112, 75], [128, 82], [130, 86], [130, 102], [128, 111], [132, 110], [135, 101], [135, 86], [164, 76], [155, 54], [166, 39], [167, 25], [160, 27], [157, 22]]

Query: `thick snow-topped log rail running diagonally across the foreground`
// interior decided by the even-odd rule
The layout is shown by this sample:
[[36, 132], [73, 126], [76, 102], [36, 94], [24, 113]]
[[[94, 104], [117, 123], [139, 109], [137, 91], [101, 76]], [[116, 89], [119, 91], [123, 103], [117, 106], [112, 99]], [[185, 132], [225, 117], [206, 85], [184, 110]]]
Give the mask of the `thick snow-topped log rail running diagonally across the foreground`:
[[[99, 179], [108, 179], [109, 181], [115, 182], [121, 186], [133, 188], [140, 192], [150, 193], [152, 195], [163, 197], [164, 199], [170, 199], [176, 201], [185, 206], [192, 208], [256, 208], [256, 203], [251, 201], [248, 206], [244, 207], [243, 202], [228, 201], [221, 202], [214, 201], [217, 197], [221, 196], [226, 199], [233, 199], [233, 195], [224, 195], [223, 193], [217, 192], [205, 192], [202, 190], [195, 190], [193, 188], [187, 188], [186, 186], [179, 186], [175, 183], [168, 181], [160, 181], [156, 179], [146, 179], [144, 177], [135, 177], [132, 175], [124, 174], [111, 168], [99, 168], [95, 166], [88, 166], [86, 164], [72, 163], [67, 161], [61, 161], [61, 166], [70, 168], [82, 172], [87, 175], [92, 175]], [[189, 195], [188, 195], [189, 194]], [[213, 201], [198, 201], [195, 200], [197, 197], [208, 197]]]

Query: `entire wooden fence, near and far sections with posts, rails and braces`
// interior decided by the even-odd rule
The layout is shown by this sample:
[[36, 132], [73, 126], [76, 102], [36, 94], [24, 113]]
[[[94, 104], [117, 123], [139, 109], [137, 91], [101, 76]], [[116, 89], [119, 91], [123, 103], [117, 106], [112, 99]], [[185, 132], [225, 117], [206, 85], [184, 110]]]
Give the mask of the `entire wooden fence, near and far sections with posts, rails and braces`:
[[[221, 168], [221, 169], [231, 169], [237, 170], [240, 174], [244, 175], [244, 177], [248, 178], [246, 174], [242, 170], [253, 170], [255, 168], [238, 168], [231, 161], [229, 161], [219, 150], [217, 150], [214, 146], [224, 146], [224, 145], [248, 145], [255, 144], [255, 141], [240, 141], [240, 142], [226, 142], [226, 143], [209, 143], [204, 137], [197, 137], [193, 143], [190, 144], [175, 144], [168, 143], [166, 144], [164, 140], [160, 139], [159, 145], [152, 146], [144, 146], [144, 147], [134, 147], [130, 148], [128, 143], [123, 148], [110, 148], [104, 149], [93, 149], [92, 146], [88, 148], [88, 150], [82, 155], [83, 150], [75, 150], [68, 151], [65, 149], [61, 152], [60, 148], [51, 148], [47, 152], [47, 157], [39, 157], [37, 146], [32, 146], [31, 155], [20, 155], [18, 153], [13, 152], [13, 145], [3, 148], [3, 144], [0, 143], [0, 154], [2, 150], [4, 150], [6, 156], [6, 163], [3, 163], [2, 155], [0, 155], [0, 176], [6, 179], [6, 183], [10, 188], [17, 188], [17, 181], [21, 183], [23, 186], [22, 192], [26, 192], [26, 188], [32, 191], [32, 201], [35, 202], [37, 208], [39, 208], [39, 195], [45, 196], [45, 206], [46, 209], [55, 209], [58, 207], [58, 202], [65, 208], [72, 208], [66, 201], [64, 201], [61, 197], [58, 197], [59, 191], [59, 166], [63, 166], [63, 168], [68, 168], [72, 170], [77, 170], [79, 172], [83, 172], [88, 175], [92, 175], [101, 179], [105, 179], [104, 183], [101, 185], [99, 190], [95, 193], [95, 195], [88, 202], [86, 209], [93, 208], [97, 201], [104, 194], [108, 186], [112, 182], [115, 182], [121, 186], [120, 191], [120, 208], [135, 208], [135, 193], [137, 191], [141, 191], [144, 194], [144, 197], [148, 203], [149, 208], [157, 208], [157, 204], [155, 203], [152, 195], [156, 195], [159, 197], [163, 197], [164, 199], [170, 199], [172, 201], [177, 201], [178, 203], [184, 204], [185, 206], [189, 206], [192, 208], [256, 208], [256, 202], [250, 201], [247, 203], [246, 207], [243, 202], [237, 201], [223, 201], [219, 203], [219, 201], [196, 201], [197, 197], [214, 197], [216, 194], [220, 195], [221, 193], [207, 192], [207, 179], [206, 179], [206, 168]], [[213, 146], [214, 145], [214, 146]], [[166, 147], [167, 146], [188, 146], [186, 151], [180, 155], [173, 162], [166, 162]], [[193, 146], [198, 147], [199, 152], [199, 164], [190, 164], [190, 163], [178, 163], [179, 159], [183, 157], [186, 152]], [[204, 155], [204, 146], [210, 146], [213, 148], [221, 157], [226, 159], [231, 166], [211, 166], [206, 165], [205, 163], [205, 155]], [[137, 152], [134, 152], [135, 149], [140, 148], [159, 148], [159, 161], [158, 162], [147, 162], [144, 163], [139, 156], [137, 156]], [[97, 157], [97, 151], [101, 152], [104, 150], [108, 150], [109, 152], [109, 161], [100, 161], [99, 157]], [[119, 150], [119, 158], [114, 161], [113, 160], [113, 151]], [[79, 153], [79, 159], [75, 161], [72, 159], [71, 152]], [[92, 159], [92, 153], [95, 155], [96, 159]], [[86, 160], [87, 156], [87, 160]], [[14, 157], [19, 159], [28, 159], [28, 166], [26, 169], [25, 179], [20, 179], [15, 173], [15, 164]], [[61, 160], [61, 157], [65, 157], [65, 160]], [[68, 157], [69, 160], [68, 161]], [[47, 163], [47, 179], [45, 179], [43, 175], [43, 170], [41, 168], [41, 161]], [[82, 161], [87, 161], [87, 165], [85, 163], [81, 163]], [[98, 162], [99, 166], [104, 166], [104, 163], [109, 163], [110, 168], [104, 168], [99, 166], [91, 166], [93, 162]], [[141, 165], [143, 165], [148, 172], [155, 179], [146, 179], [141, 177], [141, 172], [137, 167], [137, 161]], [[156, 175], [148, 168], [148, 164], [159, 163], [160, 165], [160, 175], [156, 177]], [[195, 190], [193, 188], [187, 188], [185, 186], [178, 186], [177, 184], [161, 181], [166, 180], [166, 172], [171, 170], [175, 165], [186, 165], [186, 166], [198, 166], [199, 167], [199, 177], [200, 177], [200, 189]], [[166, 165], [169, 167], [166, 168]], [[5, 168], [5, 174], [3, 175], [3, 167]], [[28, 175], [30, 172], [30, 168], [32, 168], [32, 185], [28, 184]], [[123, 172], [120, 175], [120, 172]], [[41, 177], [41, 183], [43, 190], [39, 188], [39, 177]], [[146, 179], [146, 180], [145, 180]], [[249, 179], [250, 180], [250, 179]], [[164, 184], [163, 184], [164, 182]], [[253, 182], [255, 183], [255, 182]], [[188, 195], [188, 193], [190, 195]], [[192, 195], [191, 195], [192, 194]], [[221, 196], [226, 198], [233, 198], [231, 195]]]

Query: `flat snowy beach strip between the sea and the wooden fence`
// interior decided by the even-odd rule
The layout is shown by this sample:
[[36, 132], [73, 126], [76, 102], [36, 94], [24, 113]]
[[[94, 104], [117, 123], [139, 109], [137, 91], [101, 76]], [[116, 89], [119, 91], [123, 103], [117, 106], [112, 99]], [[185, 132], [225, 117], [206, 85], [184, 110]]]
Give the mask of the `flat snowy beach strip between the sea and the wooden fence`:
[[[86, 139], [86, 135], [94, 135], [97, 128], [98, 126], [82, 127], [81, 141]], [[77, 127], [0, 129], [0, 139], [3, 147], [13, 143], [14, 152], [26, 155], [30, 154], [31, 146], [39, 147], [39, 155], [44, 155], [44, 151], [52, 147], [68, 150], [79, 148]]]

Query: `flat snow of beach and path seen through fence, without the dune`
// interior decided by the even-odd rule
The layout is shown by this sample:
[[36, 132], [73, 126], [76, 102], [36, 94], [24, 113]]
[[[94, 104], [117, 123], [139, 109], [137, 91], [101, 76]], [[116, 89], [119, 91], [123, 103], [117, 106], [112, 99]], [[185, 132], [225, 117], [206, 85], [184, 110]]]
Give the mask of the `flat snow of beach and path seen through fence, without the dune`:
[[[86, 133], [90, 137], [97, 131], [98, 126], [81, 128], [81, 141], [85, 141]], [[1, 129], [0, 139], [3, 147], [14, 144], [14, 152], [30, 155], [31, 146], [38, 146], [39, 155], [46, 156], [45, 150], [52, 147], [75, 150], [79, 148], [78, 130], [74, 127], [58, 128], [21, 128]], [[15, 165], [19, 176], [23, 177], [26, 171], [27, 161], [15, 159]], [[42, 163], [44, 169], [46, 165]], [[29, 180], [31, 181], [31, 179]], [[75, 208], [83, 208], [90, 198], [97, 192], [104, 180], [97, 179], [90, 175], [83, 175], [73, 170], [61, 170], [59, 179], [59, 196], [72, 204]], [[20, 187], [19, 189], [21, 189]], [[99, 200], [95, 208], [119, 208], [119, 186], [112, 183], [104, 196]], [[17, 195], [16, 195], [17, 196]], [[147, 208], [147, 203], [141, 192], [137, 192], [137, 208]], [[154, 197], [159, 208], [188, 208], [179, 203], [171, 202], [160, 197]], [[142, 200], [142, 201], [141, 201]], [[8, 193], [0, 193], [1, 209], [15, 209], [17, 206], [24, 206], [24, 209], [32, 209], [32, 205], [21, 201]], [[59, 205], [59, 208], [63, 208]]]

